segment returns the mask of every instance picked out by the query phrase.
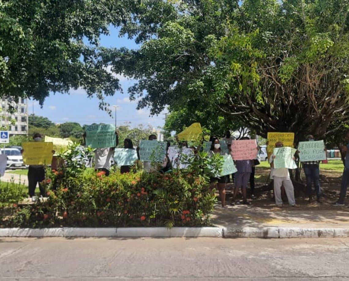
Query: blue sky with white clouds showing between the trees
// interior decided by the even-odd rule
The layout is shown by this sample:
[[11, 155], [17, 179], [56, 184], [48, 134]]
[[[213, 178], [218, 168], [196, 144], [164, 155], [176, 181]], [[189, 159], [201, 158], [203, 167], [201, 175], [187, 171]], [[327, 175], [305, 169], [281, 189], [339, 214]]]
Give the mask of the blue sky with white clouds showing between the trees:
[[[109, 36], [101, 37], [101, 45], [105, 47], [127, 47], [138, 48], [133, 40], [127, 37], [118, 37], [118, 30], [111, 28]], [[127, 88], [135, 80], [128, 80], [125, 77], [117, 76], [120, 79], [120, 85], [124, 94], [116, 92], [112, 97], [106, 97], [105, 101], [117, 108], [117, 126], [125, 122], [131, 122], [131, 127], [139, 124], [151, 125], [154, 128], [164, 125], [165, 115], [149, 117], [149, 110], [136, 110], [136, 102], [130, 102], [128, 99]], [[115, 109], [111, 108], [113, 117]], [[115, 124], [115, 119], [111, 118], [107, 112], [98, 109], [98, 99], [96, 97], [89, 99], [83, 89], [70, 91], [70, 94], [51, 94], [46, 98], [44, 106], [41, 109], [37, 101], [30, 101], [28, 104], [29, 114], [34, 112], [35, 115], [49, 118], [54, 123], [77, 122], [81, 125], [91, 123]]]

